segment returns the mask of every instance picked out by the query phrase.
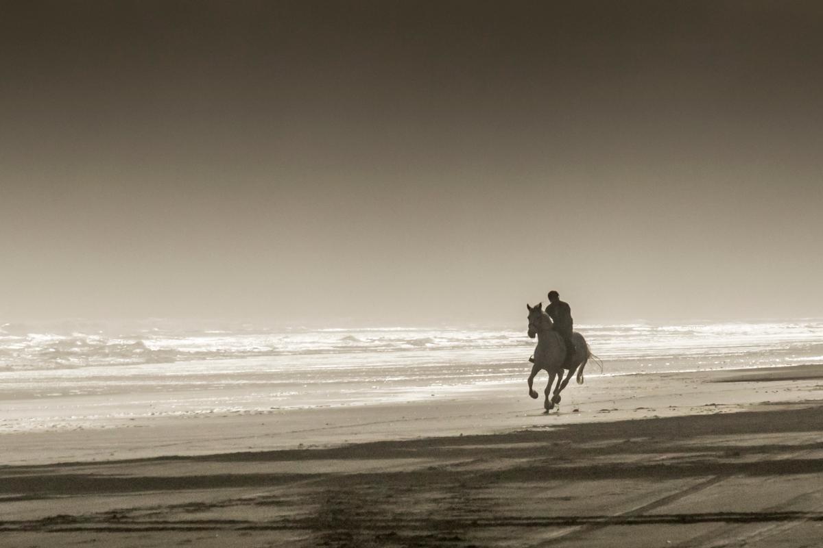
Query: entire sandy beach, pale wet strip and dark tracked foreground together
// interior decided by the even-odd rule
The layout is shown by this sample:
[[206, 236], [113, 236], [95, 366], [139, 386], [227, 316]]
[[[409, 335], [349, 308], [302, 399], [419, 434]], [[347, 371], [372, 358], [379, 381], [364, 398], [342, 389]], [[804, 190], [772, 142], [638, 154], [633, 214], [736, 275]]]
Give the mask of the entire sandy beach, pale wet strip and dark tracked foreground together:
[[809, 365], [6, 434], [0, 545], [820, 546], [821, 425]]

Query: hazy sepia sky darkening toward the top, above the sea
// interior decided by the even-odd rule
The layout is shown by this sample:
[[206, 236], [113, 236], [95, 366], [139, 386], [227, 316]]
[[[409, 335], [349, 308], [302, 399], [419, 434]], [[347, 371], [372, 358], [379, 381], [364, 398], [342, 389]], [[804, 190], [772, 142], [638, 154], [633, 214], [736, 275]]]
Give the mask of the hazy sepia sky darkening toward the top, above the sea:
[[823, 316], [820, 2], [2, 2], [0, 323]]

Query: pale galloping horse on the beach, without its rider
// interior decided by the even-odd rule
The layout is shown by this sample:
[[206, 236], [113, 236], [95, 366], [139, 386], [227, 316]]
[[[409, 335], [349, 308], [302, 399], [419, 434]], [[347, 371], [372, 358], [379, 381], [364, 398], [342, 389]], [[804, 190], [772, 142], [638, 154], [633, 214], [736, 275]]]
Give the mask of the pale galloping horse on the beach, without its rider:
[[[583, 335], [576, 331], [572, 334], [574, 340], [574, 356], [570, 359], [569, 366], [565, 366], [565, 343], [560, 334], [554, 330], [551, 323], [551, 318], [546, 311], [543, 310], [543, 303], [538, 303], [537, 306], [528, 306], [528, 336], [534, 338], [537, 336], [537, 348], [534, 350], [534, 366], [532, 367], [532, 374], [528, 375], [528, 395], [537, 399], [539, 395], [532, 389], [532, 382], [535, 375], [540, 370], [546, 370], [549, 374], [549, 383], [543, 394], [546, 394], [546, 400], [543, 402], [543, 407], [546, 412], [555, 407], [556, 403], [560, 403], [560, 392], [569, 384], [571, 375], [577, 371], [577, 384], [583, 384], [583, 369], [588, 362], [588, 358], [592, 357], [592, 352], [588, 348], [588, 343]], [[563, 378], [563, 370], [568, 369], [569, 373]], [[549, 393], [551, 392], [551, 384], [557, 377], [557, 386], [555, 387], [554, 395], [549, 400]], [[561, 382], [562, 380], [562, 382]]]

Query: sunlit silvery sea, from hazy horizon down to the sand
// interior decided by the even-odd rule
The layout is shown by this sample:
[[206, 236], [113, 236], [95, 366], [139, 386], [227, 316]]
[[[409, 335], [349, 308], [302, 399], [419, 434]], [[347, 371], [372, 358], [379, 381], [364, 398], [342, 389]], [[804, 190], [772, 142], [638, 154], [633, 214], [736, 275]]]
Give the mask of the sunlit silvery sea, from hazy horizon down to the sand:
[[[587, 375], [823, 361], [823, 320], [579, 325]], [[523, 382], [523, 329], [175, 329], [3, 325], [0, 431], [68, 418], [407, 402]], [[50, 422], [49, 422], [50, 421]], [[69, 421], [70, 422], [70, 421]], [[66, 423], [68, 424], [68, 423]]]

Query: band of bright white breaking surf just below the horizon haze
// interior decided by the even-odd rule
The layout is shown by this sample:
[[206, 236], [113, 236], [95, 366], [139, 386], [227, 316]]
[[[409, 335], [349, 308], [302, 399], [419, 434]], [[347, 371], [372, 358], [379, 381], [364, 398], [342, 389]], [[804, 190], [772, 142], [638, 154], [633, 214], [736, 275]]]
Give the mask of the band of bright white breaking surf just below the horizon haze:
[[[792, 363], [823, 353], [823, 321], [580, 325], [593, 351], [610, 361], [744, 362], [768, 354]], [[142, 329], [73, 322], [0, 326], [0, 370], [119, 366], [247, 357], [371, 353], [407, 359], [405, 352], [441, 352], [459, 360], [523, 360], [535, 341], [522, 329], [176, 329], [147, 322]], [[448, 351], [452, 353], [447, 354]], [[398, 352], [404, 352], [402, 355]]]

